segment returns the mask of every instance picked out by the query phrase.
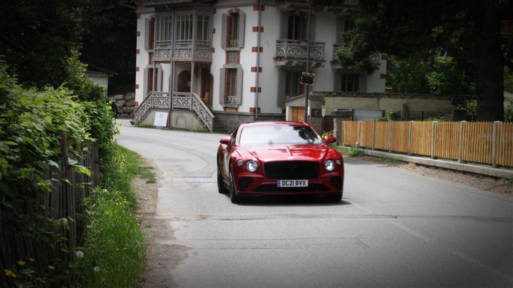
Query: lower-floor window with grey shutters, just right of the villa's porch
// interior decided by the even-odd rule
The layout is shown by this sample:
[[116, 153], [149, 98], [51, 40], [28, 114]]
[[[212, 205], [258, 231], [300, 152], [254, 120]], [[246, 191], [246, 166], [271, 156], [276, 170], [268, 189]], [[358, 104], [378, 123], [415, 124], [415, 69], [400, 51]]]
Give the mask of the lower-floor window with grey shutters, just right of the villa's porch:
[[230, 65], [221, 68], [220, 73], [220, 104], [239, 105], [242, 99], [242, 68]]

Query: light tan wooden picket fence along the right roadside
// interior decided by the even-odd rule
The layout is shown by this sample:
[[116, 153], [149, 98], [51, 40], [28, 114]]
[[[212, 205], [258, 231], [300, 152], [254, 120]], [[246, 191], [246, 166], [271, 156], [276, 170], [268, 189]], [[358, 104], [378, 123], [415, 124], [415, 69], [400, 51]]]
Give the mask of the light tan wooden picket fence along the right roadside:
[[342, 121], [343, 145], [513, 166], [513, 122]]

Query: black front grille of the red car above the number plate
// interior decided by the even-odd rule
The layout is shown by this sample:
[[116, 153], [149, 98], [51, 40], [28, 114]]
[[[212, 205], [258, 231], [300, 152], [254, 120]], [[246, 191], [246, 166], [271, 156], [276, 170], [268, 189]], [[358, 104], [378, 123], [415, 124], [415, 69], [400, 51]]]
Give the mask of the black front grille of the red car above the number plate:
[[309, 161], [264, 163], [264, 172], [267, 179], [315, 179], [319, 177], [319, 168], [319, 162]]

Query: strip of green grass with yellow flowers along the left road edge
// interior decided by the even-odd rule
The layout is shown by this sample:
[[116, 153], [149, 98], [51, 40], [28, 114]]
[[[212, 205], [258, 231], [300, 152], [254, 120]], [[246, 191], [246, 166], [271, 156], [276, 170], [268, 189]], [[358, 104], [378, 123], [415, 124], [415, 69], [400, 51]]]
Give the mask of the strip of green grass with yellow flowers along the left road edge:
[[113, 155], [102, 183], [86, 199], [88, 233], [84, 246], [76, 249], [84, 257], [73, 259], [69, 286], [137, 287], [141, 282], [146, 245], [131, 181], [152, 174], [151, 168], [142, 167], [143, 159], [121, 146], [115, 145]]

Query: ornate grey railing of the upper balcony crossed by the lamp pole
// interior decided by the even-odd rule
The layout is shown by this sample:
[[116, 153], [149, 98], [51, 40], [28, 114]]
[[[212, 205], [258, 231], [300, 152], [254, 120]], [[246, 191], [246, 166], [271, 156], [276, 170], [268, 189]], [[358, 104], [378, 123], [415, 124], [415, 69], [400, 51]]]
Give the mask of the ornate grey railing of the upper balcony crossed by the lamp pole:
[[[308, 43], [303, 40], [277, 40], [276, 57], [306, 60]], [[310, 60], [324, 60], [324, 43], [310, 42]]]

